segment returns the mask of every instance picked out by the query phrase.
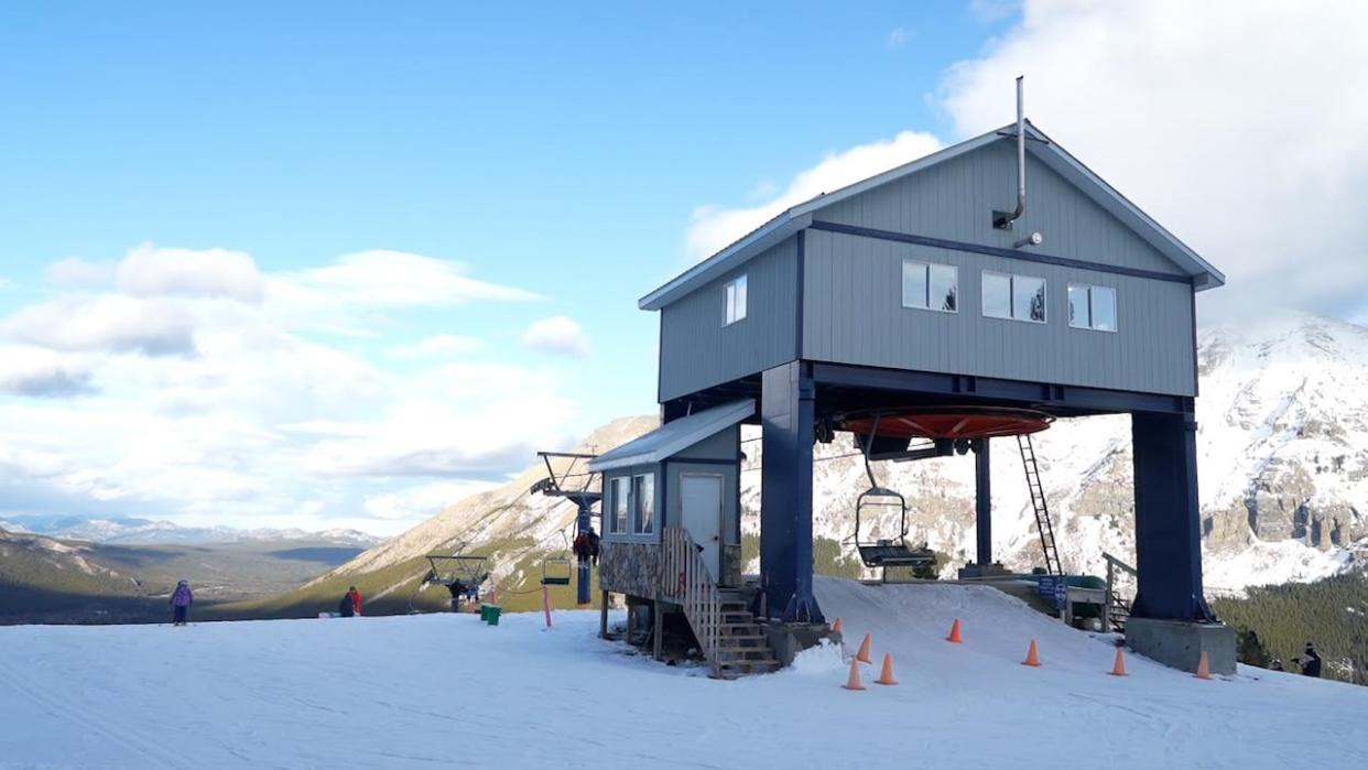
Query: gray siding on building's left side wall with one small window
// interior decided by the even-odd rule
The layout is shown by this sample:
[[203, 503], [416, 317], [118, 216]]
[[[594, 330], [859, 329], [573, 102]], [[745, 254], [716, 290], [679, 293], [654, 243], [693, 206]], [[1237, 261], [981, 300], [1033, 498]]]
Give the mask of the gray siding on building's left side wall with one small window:
[[[722, 327], [724, 287], [746, 274], [746, 319]], [[740, 269], [661, 310], [659, 401], [792, 361], [798, 330], [798, 246], [773, 246]]]

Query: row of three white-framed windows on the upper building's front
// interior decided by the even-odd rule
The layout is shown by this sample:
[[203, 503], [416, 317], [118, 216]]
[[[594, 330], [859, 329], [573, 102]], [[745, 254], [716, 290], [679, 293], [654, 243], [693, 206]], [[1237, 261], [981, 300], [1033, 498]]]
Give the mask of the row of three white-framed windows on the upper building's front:
[[[1033, 275], [982, 272], [984, 315], [1042, 324], [1045, 279]], [[959, 312], [959, 268], [903, 260], [903, 306], [943, 313]], [[1068, 284], [1068, 326], [1116, 331], [1116, 290], [1107, 286]]]

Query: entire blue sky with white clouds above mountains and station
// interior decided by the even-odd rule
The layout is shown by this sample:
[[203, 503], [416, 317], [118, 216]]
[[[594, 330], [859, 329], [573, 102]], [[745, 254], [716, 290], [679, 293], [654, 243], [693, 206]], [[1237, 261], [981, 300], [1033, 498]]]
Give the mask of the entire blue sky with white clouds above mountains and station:
[[[637, 297], [796, 197], [1008, 122], [1022, 71], [1033, 118], [1212, 261], [1270, 252], [1234, 271], [1242, 297], [1361, 317], [1361, 272], [1272, 279], [1343, 252], [1291, 235], [1339, 205], [1207, 135], [1295, 93], [1235, 146], [1338, 122], [1272, 171], [1343, 198], [1361, 119], [1324, 75], [1363, 70], [1361, 22], [1282, 59], [1253, 45], [1282, 11], [1242, 8], [5, 5], [0, 516], [412, 524], [653, 410]], [[1222, 196], [1293, 222], [1254, 241]], [[419, 435], [440, 431], [464, 438]]]

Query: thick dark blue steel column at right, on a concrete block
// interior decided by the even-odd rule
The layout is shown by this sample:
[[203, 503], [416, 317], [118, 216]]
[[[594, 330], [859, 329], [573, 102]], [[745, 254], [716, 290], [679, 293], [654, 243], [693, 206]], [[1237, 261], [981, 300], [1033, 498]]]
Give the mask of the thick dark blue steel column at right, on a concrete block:
[[1131, 614], [1213, 620], [1201, 585], [1197, 421], [1192, 414], [1134, 412], [1135, 568]]

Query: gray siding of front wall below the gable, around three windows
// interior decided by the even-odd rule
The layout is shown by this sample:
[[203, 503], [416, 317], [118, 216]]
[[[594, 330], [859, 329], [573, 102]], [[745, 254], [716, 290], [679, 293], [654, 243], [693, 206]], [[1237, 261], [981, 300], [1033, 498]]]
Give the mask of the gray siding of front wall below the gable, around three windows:
[[[903, 308], [903, 258], [959, 268], [959, 312]], [[1044, 278], [1047, 323], [982, 315], [982, 271]], [[1115, 332], [1068, 326], [1068, 284], [1116, 290]], [[808, 231], [803, 358], [1194, 395], [1192, 286]]]

